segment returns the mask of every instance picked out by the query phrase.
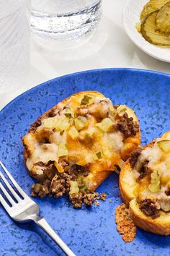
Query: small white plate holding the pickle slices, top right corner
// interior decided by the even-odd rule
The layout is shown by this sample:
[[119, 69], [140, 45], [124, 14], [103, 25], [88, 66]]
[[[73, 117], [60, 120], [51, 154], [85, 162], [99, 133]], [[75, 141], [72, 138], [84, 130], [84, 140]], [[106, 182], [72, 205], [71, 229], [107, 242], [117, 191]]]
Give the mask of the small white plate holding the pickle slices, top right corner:
[[122, 12], [122, 23], [129, 38], [146, 54], [161, 61], [170, 62], [170, 48], [148, 43], [135, 28], [140, 21], [140, 13], [149, 0], [128, 0]]

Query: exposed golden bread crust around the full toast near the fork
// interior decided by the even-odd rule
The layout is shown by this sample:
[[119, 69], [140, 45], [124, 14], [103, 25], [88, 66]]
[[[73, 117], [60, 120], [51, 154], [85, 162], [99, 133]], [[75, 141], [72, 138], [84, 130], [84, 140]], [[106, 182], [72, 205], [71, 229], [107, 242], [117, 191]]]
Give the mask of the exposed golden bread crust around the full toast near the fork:
[[[95, 94], [97, 96], [103, 96], [102, 93], [99, 93], [97, 91], [82, 91], [82, 92], [75, 93], [75, 94], [71, 95], [70, 97], [68, 97], [68, 98], [64, 99], [63, 101], [61, 101], [61, 103], [66, 104], [66, 103], [68, 103], [68, 101], [69, 101], [69, 99], [71, 97], [77, 96], [77, 95], [82, 96], [82, 95], [85, 95], [85, 94], [88, 94], [88, 93], [93, 93], [93, 94]], [[37, 119], [37, 121], [46, 118], [51, 111], [53, 111], [53, 110], [55, 110], [57, 108], [58, 108], [58, 104], [53, 106], [53, 108], [50, 108], [44, 114], [42, 114], [42, 116], [40, 116]], [[139, 124], [138, 118], [135, 115], [135, 113], [133, 112], [133, 110], [128, 108], [128, 107], [126, 107], [126, 108], [127, 108], [126, 112], [128, 113], [128, 116], [129, 117], [133, 117], [134, 121], [136, 121], [137, 124]], [[32, 126], [33, 125], [34, 124], [32, 124]], [[30, 129], [30, 133], [34, 133], [34, 131], [32, 131], [32, 129]], [[25, 163], [25, 166], [27, 168], [26, 162], [27, 162], [27, 158], [29, 157], [29, 152], [27, 151], [27, 138], [24, 137], [22, 142], [23, 142], [23, 144], [25, 146], [25, 148], [24, 148], [24, 163]], [[127, 158], [129, 157], [130, 153], [132, 153], [133, 150], [135, 150], [135, 148], [137, 148], [139, 144], [140, 144], [140, 132], [138, 132], [133, 137], [128, 137], [125, 140], [125, 146], [124, 146], [124, 148], [122, 150], [122, 154], [121, 154], [122, 160], [126, 161]], [[32, 176], [32, 178], [34, 178], [36, 180], [43, 179], [43, 175], [32, 174], [32, 171], [30, 171], [28, 168], [27, 168], [27, 172], [28, 172], [28, 174], [30, 174], [30, 176]], [[99, 185], [102, 184], [102, 182], [104, 182], [104, 179], [107, 179], [107, 177], [111, 173], [112, 173], [111, 171], [99, 171], [97, 173], [89, 173], [89, 175], [86, 177], [86, 180], [90, 184], [91, 191], [94, 191], [95, 189], [97, 189], [97, 187], [99, 187]]]

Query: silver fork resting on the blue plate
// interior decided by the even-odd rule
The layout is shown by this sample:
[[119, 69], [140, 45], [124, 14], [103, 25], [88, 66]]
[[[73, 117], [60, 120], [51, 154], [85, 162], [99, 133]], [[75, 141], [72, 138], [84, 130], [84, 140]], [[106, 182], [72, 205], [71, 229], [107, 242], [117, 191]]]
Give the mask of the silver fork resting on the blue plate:
[[11, 207], [9, 204], [4, 200], [4, 197], [0, 194], [0, 202], [4, 206], [6, 212], [9, 214], [11, 218], [14, 219], [14, 221], [17, 222], [27, 222], [27, 221], [34, 221], [40, 228], [42, 228], [57, 244], [61, 249], [63, 249], [63, 252], [66, 253], [68, 256], [76, 256], [71, 249], [68, 248], [68, 246], [61, 240], [61, 238], [53, 231], [53, 229], [50, 227], [50, 225], [45, 221], [45, 218], [41, 218], [39, 213], [39, 206], [32, 200], [28, 195], [19, 187], [19, 184], [14, 180], [12, 175], [9, 173], [9, 171], [6, 169], [3, 163], [0, 161], [0, 166], [4, 169], [7, 176], [13, 183], [14, 187], [18, 190], [18, 192], [22, 195], [23, 199], [17, 195], [17, 193], [14, 191], [12, 186], [7, 182], [6, 178], [0, 171], [0, 178], [4, 181], [6, 184], [6, 187], [9, 189], [9, 191], [12, 193], [13, 197], [17, 202], [15, 202], [11, 195], [9, 195], [9, 192], [6, 191], [3, 184], [0, 182], [0, 189], [4, 193], [7, 200], [9, 200]]

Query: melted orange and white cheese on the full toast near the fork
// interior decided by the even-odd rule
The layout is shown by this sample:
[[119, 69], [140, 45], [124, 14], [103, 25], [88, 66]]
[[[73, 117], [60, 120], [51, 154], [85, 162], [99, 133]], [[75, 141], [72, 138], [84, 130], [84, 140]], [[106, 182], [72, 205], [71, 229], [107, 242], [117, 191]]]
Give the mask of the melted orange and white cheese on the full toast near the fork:
[[[95, 95], [94, 93], [94, 107], [95, 104], [99, 104], [104, 100], [101, 111], [107, 111], [107, 109], [113, 110], [113, 106], [109, 99], [104, 98], [104, 95]], [[81, 100], [84, 95], [73, 95], [69, 101], [64, 103], [58, 103], [57, 116], [50, 117], [48, 119], [42, 119], [42, 124], [37, 128], [35, 137], [37, 141], [34, 143], [35, 150], [33, 150], [30, 158], [27, 159], [27, 167], [31, 170], [37, 162], [48, 163], [48, 161], [58, 161], [58, 145], [63, 143], [67, 150], [67, 160], [71, 164], [79, 164], [85, 166], [89, 164], [89, 171], [112, 171], [115, 169], [115, 165], [121, 166], [122, 159], [120, 158], [121, 150], [124, 147], [124, 137], [121, 132], [104, 132], [99, 129], [97, 119], [95, 115], [88, 114], [87, 119], [89, 121], [88, 127], [84, 127], [79, 132], [79, 137], [75, 140], [71, 139], [68, 135], [68, 130], [74, 124], [73, 116], [69, 119], [63, 114], [63, 108], [69, 107], [76, 116], [77, 108], [81, 105]], [[93, 108], [93, 111], [95, 108]], [[99, 108], [97, 109], [99, 111]], [[112, 114], [114, 111], [112, 111]], [[55, 126], [60, 122], [60, 119], [67, 119], [68, 127], [64, 126], [65, 132], [61, 132], [60, 129]], [[69, 120], [68, 120], [69, 119]], [[114, 116], [112, 116], [112, 123], [114, 124]], [[46, 125], [46, 127], [45, 127]], [[49, 140], [49, 144], [43, 145], [41, 136], [45, 130], [45, 139]], [[46, 149], [45, 149], [46, 148]], [[97, 158], [97, 153], [101, 153], [102, 158]], [[40, 170], [37, 170], [40, 173]]]

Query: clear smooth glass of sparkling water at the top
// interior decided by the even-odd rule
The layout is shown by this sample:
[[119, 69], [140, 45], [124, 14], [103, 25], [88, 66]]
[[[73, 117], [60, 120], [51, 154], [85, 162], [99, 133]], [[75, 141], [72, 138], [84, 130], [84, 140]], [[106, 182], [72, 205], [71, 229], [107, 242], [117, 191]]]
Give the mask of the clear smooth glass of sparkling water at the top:
[[102, 0], [32, 0], [31, 29], [42, 40], [73, 40], [89, 35], [102, 15]]

